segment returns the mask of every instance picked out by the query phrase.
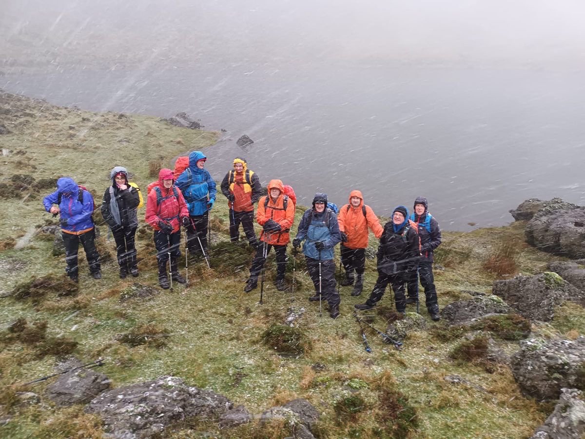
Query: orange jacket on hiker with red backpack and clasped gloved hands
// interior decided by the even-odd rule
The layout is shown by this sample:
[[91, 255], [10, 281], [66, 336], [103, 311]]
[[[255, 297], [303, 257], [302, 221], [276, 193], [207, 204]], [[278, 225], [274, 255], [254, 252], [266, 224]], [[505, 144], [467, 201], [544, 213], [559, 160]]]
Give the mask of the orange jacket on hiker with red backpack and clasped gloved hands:
[[[270, 197], [270, 189], [280, 190], [280, 195], [273, 201]], [[268, 203], [266, 203], [268, 200]], [[266, 207], [264, 207], [266, 204]], [[272, 219], [280, 225], [280, 232], [264, 232], [260, 234], [260, 240], [270, 245], [287, 245], [290, 241], [289, 231], [294, 222], [294, 203], [287, 201], [287, 208], [284, 210], [284, 186], [280, 180], [270, 180], [268, 184], [268, 195], [261, 197], [256, 211], [256, 221], [264, 227], [266, 222]]]

